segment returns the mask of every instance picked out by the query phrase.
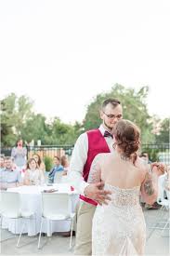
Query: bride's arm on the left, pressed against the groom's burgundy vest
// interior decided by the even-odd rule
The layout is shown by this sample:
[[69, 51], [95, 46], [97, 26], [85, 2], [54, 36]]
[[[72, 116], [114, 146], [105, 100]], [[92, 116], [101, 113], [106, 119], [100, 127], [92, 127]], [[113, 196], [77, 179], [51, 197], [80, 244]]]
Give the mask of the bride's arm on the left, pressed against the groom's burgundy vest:
[[96, 155], [91, 164], [87, 181], [88, 183], [97, 183], [101, 181], [100, 157], [100, 154]]

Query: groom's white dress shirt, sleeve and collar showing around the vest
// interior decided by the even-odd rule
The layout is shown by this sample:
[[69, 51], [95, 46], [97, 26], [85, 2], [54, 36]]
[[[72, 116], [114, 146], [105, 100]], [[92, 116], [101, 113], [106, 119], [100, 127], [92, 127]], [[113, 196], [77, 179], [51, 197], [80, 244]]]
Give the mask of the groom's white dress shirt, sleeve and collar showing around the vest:
[[[98, 128], [101, 134], [104, 136], [105, 128], [103, 125], [100, 125]], [[112, 144], [113, 139], [111, 137], [104, 137], [107, 142], [111, 152], [113, 151]], [[83, 170], [85, 167], [86, 159], [88, 153], [88, 138], [86, 132], [81, 134], [77, 141], [75, 142], [72, 158], [70, 163], [70, 170], [68, 172], [69, 182], [72, 183], [72, 186], [78, 191], [79, 194], [85, 195], [85, 187], [89, 185], [83, 179]]]

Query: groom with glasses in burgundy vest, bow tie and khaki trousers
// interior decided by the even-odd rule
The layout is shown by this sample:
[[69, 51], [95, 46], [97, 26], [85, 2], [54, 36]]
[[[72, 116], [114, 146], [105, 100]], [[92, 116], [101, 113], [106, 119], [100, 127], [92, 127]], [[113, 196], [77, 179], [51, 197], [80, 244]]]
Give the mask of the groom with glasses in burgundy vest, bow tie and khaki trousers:
[[[100, 109], [102, 124], [99, 128], [80, 135], [74, 145], [69, 177], [80, 193], [77, 216], [75, 255], [91, 255], [91, 227], [97, 204], [109, 200], [109, 191], [103, 190], [104, 183], [88, 184], [88, 174], [93, 159], [99, 153], [110, 153], [113, 148], [112, 128], [123, 117], [121, 102], [116, 99], [103, 101]], [[98, 203], [97, 203], [98, 202]]]

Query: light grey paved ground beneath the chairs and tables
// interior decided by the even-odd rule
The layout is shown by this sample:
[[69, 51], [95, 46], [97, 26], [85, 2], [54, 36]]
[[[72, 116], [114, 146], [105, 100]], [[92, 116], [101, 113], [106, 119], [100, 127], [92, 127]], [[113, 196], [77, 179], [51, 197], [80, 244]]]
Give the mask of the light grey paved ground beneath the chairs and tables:
[[[170, 255], [170, 237], [168, 237], [168, 231], [166, 230], [162, 235], [161, 230], [152, 230], [149, 226], [152, 226], [155, 222], [155, 217], [159, 213], [159, 210], [150, 209], [144, 210], [144, 214], [147, 222], [147, 236], [150, 238], [146, 245], [146, 255]], [[169, 214], [165, 212], [166, 216]], [[152, 233], [151, 233], [152, 232]], [[8, 236], [7, 231], [2, 232], [3, 236]], [[1, 244], [1, 255], [73, 255], [73, 249], [69, 250], [69, 237], [62, 237], [59, 234], [53, 234], [43, 249], [37, 249], [37, 236], [28, 237], [23, 236], [20, 248], [16, 248], [17, 237], [9, 239]], [[42, 243], [46, 242], [46, 236], [42, 237]], [[72, 245], [75, 243], [75, 237], [72, 239]]]

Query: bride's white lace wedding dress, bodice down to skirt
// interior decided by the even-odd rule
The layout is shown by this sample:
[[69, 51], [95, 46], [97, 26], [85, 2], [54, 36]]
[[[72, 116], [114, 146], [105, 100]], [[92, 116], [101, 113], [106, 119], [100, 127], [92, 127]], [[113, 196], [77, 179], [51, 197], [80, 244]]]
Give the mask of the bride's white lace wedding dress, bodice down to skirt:
[[146, 224], [139, 205], [140, 187], [122, 189], [105, 183], [111, 191], [108, 205], [98, 206], [93, 219], [93, 255], [143, 255]]

